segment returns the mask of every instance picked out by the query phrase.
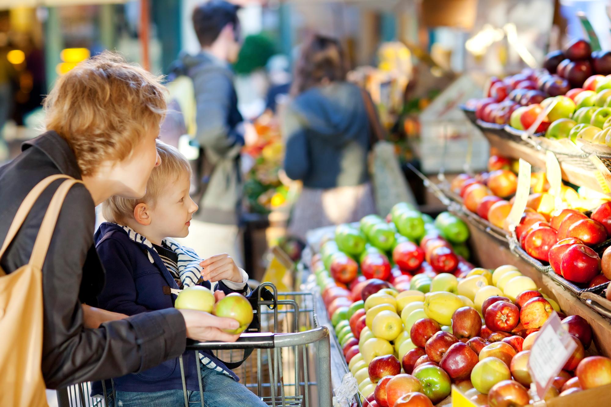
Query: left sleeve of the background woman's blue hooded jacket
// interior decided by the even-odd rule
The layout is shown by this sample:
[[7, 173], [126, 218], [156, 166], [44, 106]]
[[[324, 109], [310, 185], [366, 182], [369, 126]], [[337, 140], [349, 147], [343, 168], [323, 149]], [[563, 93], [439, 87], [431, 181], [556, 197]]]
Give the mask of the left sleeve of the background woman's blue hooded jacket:
[[302, 180], [310, 167], [307, 134], [298, 114], [287, 106], [282, 120], [282, 134], [286, 138], [284, 171], [293, 180]]

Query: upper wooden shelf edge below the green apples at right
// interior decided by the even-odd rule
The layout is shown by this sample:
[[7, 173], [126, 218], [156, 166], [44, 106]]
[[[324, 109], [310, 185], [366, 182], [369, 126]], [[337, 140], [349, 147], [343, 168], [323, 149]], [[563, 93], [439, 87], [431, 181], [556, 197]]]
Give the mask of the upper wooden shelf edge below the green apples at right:
[[[528, 145], [519, 144], [510, 139], [505, 139], [491, 131], [481, 129], [482, 133], [488, 139], [490, 147], [495, 147], [503, 156], [518, 160], [522, 158], [528, 161], [532, 166], [545, 168], [545, 152], [544, 150], [536, 150]], [[562, 179], [566, 182], [577, 186], [585, 186], [599, 193], [604, 194], [595, 172], [588, 169], [576, 166], [566, 161], [560, 160], [560, 169], [562, 170]]]

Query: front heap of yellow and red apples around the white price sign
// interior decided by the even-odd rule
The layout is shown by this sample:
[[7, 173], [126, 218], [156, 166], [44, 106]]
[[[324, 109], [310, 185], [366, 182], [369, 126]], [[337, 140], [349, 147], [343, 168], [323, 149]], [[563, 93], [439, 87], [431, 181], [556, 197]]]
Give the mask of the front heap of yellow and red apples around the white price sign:
[[[585, 358], [592, 340], [587, 321], [565, 317], [516, 267], [473, 268], [464, 277], [422, 273], [411, 281], [419, 279], [430, 283], [402, 291], [376, 279], [359, 283], [359, 299], [331, 317], [364, 406], [449, 405], [452, 383], [476, 405], [529, 404], [530, 348], [554, 310], [577, 348], [548, 397], [590, 388], [580, 369], [600, 373], [597, 386], [611, 383], [611, 361]], [[333, 288], [323, 293], [326, 301], [332, 296]]]

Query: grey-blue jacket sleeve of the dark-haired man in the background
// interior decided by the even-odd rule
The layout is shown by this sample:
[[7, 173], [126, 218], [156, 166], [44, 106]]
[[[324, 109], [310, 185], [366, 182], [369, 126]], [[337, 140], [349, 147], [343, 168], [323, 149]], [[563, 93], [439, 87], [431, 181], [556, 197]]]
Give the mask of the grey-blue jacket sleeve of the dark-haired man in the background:
[[196, 94], [196, 139], [205, 149], [224, 155], [233, 145], [244, 145], [243, 131], [230, 128], [233, 83], [221, 70], [200, 72], [193, 78]]

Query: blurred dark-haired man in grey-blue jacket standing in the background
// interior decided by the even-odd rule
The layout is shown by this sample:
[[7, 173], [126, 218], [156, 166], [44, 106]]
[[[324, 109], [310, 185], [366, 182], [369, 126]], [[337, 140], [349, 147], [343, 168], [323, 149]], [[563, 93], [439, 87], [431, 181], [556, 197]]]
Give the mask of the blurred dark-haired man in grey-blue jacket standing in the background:
[[196, 177], [199, 211], [189, 237], [182, 242], [204, 258], [225, 252], [241, 265], [240, 152], [252, 127], [245, 125], [238, 111], [229, 65], [237, 59], [241, 45], [237, 12], [236, 5], [224, 0], [196, 7], [193, 27], [202, 51], [181, 57], [173, 74], [193, 81], [196, 129], [192, 136], [201, 147]]

